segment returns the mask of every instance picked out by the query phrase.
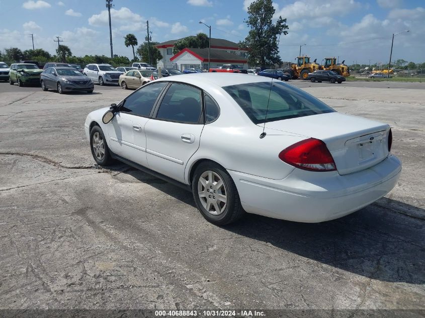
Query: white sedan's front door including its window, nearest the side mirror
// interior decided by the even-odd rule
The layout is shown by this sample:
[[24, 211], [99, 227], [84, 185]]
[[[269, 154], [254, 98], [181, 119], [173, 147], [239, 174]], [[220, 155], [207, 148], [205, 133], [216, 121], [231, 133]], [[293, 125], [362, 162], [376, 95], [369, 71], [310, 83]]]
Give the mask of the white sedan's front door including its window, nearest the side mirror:
[[147, 85], [130, 94], [108, 124], [111, 150], [128, 160], [147, 166], [144, 127], [166, 82]]

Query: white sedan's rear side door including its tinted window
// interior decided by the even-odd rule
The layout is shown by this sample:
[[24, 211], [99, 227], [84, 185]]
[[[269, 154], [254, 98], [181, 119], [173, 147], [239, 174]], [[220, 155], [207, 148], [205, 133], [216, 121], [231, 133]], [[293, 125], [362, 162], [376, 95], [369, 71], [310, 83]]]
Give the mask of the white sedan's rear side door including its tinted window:
[[199, 148], [203, 128], [201, 90], [171, 84], [144, 127], [149, 168], [184, 182], [186, 164]]

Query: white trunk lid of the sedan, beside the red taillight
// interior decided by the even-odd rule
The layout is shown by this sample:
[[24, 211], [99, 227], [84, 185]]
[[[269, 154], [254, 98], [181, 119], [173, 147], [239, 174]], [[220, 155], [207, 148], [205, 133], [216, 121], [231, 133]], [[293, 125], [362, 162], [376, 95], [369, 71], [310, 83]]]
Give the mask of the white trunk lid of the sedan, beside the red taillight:
[[267, 134], [322, 140], [342, 175], [370, 168], [388, 156], [390, 127], [361, 117], [335, 112], [270, 122], [265, 127]]

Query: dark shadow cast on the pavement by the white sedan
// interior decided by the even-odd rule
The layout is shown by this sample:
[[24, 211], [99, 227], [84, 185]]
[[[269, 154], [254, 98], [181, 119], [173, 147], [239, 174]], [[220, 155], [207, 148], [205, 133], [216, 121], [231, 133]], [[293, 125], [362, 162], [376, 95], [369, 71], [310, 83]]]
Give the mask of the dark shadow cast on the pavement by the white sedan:
[[[195, 207], [191, 192], [133, 168], [123, 173]], [[394, 206], [423, 216], [425, 210], [388, 198], [383, 202], [315, 224], [246, 214], [223, 229], [371, 279], [425, 283], [425, 221], [397, 213]]]

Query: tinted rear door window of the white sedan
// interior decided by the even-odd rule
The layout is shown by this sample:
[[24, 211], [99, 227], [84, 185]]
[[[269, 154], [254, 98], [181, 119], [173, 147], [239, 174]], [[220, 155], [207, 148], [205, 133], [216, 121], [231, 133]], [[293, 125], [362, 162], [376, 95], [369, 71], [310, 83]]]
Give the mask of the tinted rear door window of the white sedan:
[[173, 83], [161, 101], [156, 118], [198, 124], [201, 115], [201, 90], [189, 85]]

